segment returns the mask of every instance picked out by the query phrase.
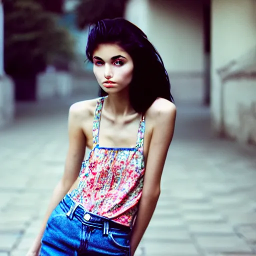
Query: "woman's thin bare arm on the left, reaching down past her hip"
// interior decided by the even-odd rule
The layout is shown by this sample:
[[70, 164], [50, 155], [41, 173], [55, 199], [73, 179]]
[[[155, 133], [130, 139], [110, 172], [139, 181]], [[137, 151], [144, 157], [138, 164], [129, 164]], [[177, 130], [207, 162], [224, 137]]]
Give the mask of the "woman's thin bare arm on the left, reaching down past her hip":
[[67, 193], [71, 185], [76, 180], [79, 170], [81, 168], [81, 163], [85, 153], [86, 139], [81, 128], [81, 116], [79, 114], [79, 105], [77, 103], [73, 104], [69, 108], [68, 113], [68, 137], [69, 137], [69, 147], [65, 160], [64, 173], [62, 178], [57, 183], [55, 189], [53, 190], [52, 197], [50, 199], [48, 208], [46, 210], [45, 217], [42, 222], [42, 226], [36, 236], [31, 248], [29, 249], [27, 256], [37, 255], [40, 249], [41, 238], [47, 223], [47, 220], [52, 212], [52, 210], [58, 205], [62, 200], [64, 195]]

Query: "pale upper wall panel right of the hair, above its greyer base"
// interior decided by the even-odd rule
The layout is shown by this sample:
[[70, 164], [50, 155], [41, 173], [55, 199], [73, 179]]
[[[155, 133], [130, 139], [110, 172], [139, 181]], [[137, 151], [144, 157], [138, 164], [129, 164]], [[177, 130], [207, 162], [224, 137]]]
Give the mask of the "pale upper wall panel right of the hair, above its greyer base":
[[200, 0], [150, 0], [148, 37], [170, 72], [203, 71]]

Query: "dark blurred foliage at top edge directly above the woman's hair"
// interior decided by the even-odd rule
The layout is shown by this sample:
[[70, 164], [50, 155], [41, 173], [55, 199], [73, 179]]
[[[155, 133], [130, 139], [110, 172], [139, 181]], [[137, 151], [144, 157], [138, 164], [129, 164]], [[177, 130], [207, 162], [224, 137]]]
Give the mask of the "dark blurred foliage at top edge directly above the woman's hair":
[[76, 6], [76, 23], [83, 29], [103, 18], [122, 17], [128, 0], [79, 0]]

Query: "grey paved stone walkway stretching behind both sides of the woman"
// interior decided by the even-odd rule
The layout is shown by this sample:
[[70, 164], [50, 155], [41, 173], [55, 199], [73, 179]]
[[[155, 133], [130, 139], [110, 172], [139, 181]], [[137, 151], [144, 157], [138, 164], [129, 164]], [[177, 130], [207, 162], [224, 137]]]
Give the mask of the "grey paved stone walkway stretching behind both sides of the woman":
[[[72, 100], [19, 105], [0, 130], [0, 256], [25, 255], [40, 226], [63, 171]], [[256, 255], [256, 149], [209, 128], [208, 109], [177, 106], [160, 200], [136, 255]]]

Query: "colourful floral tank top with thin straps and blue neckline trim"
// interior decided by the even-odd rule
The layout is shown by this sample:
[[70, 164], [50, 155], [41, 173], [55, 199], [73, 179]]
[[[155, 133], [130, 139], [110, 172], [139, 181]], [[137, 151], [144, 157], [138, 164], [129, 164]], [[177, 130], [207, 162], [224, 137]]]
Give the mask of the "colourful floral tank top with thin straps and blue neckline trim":
[[141, 117], [135, 147], [100, 147], [99, 123], [104, 97], [96, 104], [93, 148], [82, 162], [73, 200], [87, 211], [131, 226], [136, 215], [144, 179], [144, 116]]

